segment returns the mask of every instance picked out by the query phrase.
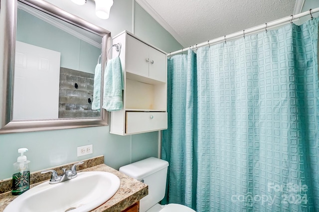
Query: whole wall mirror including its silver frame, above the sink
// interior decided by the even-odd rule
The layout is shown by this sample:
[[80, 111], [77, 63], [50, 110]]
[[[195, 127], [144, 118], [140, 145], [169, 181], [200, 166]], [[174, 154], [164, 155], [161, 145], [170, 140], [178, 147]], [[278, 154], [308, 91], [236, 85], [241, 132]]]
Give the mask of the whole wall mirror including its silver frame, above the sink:
[[110, 32], [44, 0], [0, 3], [0, 133], [107, 125]]

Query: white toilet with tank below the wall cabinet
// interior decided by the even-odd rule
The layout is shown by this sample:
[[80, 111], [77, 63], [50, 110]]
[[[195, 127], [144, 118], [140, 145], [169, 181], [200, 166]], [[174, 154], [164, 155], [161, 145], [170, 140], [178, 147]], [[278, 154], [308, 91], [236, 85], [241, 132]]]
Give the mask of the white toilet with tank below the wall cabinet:
[[149, 186], [149, 195], [140, 200], [140, 212], [195, 212], [179, 204], [158, 204], [165, 195], [167, 167], [167, 161], [148, 158], [123, 166], [120, 172]]

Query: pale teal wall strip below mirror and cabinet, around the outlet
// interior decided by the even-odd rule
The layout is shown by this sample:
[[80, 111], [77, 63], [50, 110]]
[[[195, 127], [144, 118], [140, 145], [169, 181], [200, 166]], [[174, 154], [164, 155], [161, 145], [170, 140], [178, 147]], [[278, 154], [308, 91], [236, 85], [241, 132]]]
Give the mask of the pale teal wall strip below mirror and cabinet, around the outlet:
[[[105, 164], [119, 169], [131, 161], [157, 157], [158, 132], [134, 136], [109, 134], [109, 127], [39, 131], [0, 135], [0, 179], [10, 178], [17, 149], [28, 148], [31, 171], [104, 155]], [[77, 157], [77, 147], [93, 144], [93, 155]]]

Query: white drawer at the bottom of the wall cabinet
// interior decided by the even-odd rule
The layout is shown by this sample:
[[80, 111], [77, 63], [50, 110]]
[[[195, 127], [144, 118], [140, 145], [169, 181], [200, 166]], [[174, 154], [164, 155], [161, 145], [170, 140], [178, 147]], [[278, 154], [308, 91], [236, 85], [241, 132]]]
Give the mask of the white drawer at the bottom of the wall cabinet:
[[127, 112], [126, 134], [167, 129], [166, 112]]

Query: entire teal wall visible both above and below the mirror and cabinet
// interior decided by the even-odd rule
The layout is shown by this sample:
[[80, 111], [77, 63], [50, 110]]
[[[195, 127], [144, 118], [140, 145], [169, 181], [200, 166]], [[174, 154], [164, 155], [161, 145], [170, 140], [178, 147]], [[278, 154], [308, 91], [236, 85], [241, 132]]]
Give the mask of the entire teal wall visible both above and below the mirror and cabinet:
[[[47, 1], [70, 13], [81, 16], [89, 22], [108, 29], [113, 36], [124, 30], [132, 32], [133, 0], [114, 0], [110, 18], [107, 20], [96, 17], [94, 2], [91, 0], [88, 0], [83, 6], [76, 5], [70, 0]], [[153, 18], [137, 6], [135, 21], [137, 36], [167, 52], [181, 48], [179, 43], [169, 36], [169, 33], [160, 24], [150, 19]], [[150, 33], [150, 29], [147, 26], [143, 29], [142, 26], [145, 20], [152, 21], [154, 24], [152, 30], [158, 34]], [[167, 43], [170, 43], [169, 45], [173, 47], [169, 47]], [[31, 171], [38, 171], [99, 155], [105, 156], [105, 164], [119, 169], [123, 165], [147, 157], [157, 157], [158, 155], [158, 132], [132, 136], [117, 136], [109, 132], [109, 126], [101, 126], [1, 134], [0, 180], [11, 177], [12, 164], [18, 156], [17, 149], [21, 147], [29, 149], [25, 155], [31, 161]], [[93, 144], [93, 154], [77, 157], [77, 147], [88, 144]]]

